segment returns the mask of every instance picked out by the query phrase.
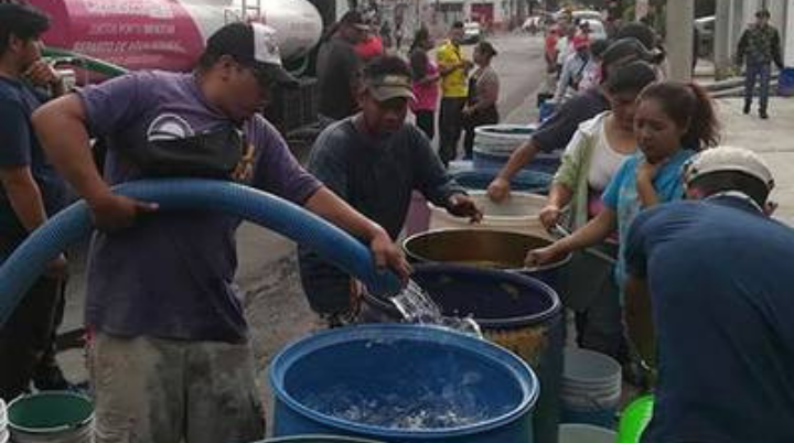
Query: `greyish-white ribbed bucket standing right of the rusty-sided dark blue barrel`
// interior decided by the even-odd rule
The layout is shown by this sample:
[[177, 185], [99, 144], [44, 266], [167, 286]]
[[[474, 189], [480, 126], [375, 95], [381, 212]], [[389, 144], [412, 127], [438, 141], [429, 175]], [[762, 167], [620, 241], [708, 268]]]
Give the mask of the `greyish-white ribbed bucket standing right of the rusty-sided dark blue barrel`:
[[621, 366], [612, 357], [580, 348], [565, 349], [560, 386], [564, 422], [611, 428], [621, 390]]

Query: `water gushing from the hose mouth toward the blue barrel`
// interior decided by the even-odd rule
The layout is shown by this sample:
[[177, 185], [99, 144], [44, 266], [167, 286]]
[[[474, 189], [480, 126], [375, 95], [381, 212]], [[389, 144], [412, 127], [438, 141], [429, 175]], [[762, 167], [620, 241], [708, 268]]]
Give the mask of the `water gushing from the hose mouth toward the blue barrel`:
[[475, 335], [482, 338], [480, 325], [472, 318], [471, 314], [464, 317], [446, 316], [441, 309], [432, 301], [430, 295], [421, 289], [414, 280], [399, 294], [393, 296], [391, 303], [408, 322], [421, 324], [434, 324], [446, 326], [465, 334]]

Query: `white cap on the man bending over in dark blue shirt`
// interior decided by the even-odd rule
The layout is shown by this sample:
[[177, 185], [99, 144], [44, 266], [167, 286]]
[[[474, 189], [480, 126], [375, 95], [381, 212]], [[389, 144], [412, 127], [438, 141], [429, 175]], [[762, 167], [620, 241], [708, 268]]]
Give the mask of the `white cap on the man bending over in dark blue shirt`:
[[684, 166], [684, 181], [689, 184], [702, 175], [725, 171], [741, 172], [762, 181], [769, 190], [774, 187], [766, 163], [755, 152], [734, 147], [711, 148], [693, 156]]

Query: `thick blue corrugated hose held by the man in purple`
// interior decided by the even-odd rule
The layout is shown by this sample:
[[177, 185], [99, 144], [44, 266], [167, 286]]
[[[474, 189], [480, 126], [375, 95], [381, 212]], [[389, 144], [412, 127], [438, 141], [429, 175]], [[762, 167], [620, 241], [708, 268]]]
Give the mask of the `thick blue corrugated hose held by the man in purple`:
[[[206, 209], [244, 218], [315, 250], [362, 280], [375, 294], [399, 290], [397, 277], [378, 270], [366, 246], [322, 218], [268, 193], [229, 182], [193, 179], [129, 182], [114, 191], [158, 203], [160, 210]], [[88, 207], [79, 201], [32, 233], [14, 250], [0, 267], [0, 326], [46, 263], [92, 229]]]

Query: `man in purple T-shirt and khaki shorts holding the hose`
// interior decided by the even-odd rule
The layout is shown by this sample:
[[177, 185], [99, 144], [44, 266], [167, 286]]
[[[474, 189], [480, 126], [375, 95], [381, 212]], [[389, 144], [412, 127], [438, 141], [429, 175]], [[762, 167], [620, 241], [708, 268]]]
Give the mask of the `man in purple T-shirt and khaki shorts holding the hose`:
[[100, 229], [86, 302], [97, 443], [246, 442], [264, 437], [265, 428], [233, 285], [239, 219], [203, 210], [161, 214], [153, 204], [112, 194], [94, 166], [89, 137], [109, 140], [105, 176], [120, 183], [149, 175], [140, 159], [154, 145], [198, 149], [195, 140], [225, 134], [224, 149], [250, 154], [230, 177], [368, 240], [379, 266], [407, 275], [388, 234], [307, 173], [256, 114], [268, 90], [285, 82], [293, 79], [281, 67], [272, 29], [234, 23], [210, 37], [192, 74], [130, 74], [34, 115], [53, 164], [86, 198]]

